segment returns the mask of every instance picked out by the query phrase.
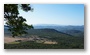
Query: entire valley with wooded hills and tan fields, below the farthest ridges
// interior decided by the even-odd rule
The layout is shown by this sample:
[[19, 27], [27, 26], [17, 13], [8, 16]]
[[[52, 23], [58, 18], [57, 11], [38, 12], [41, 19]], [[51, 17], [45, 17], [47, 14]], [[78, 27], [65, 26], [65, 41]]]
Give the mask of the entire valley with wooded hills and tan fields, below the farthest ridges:
[[[67, 31], [67, 30], [64, 30]], [[53, 28], [29, 29], [28, 34], [11, 37], [4, 29], [5, 49], [83, 49], [84, 32], [69, 29], [67, 32]]]

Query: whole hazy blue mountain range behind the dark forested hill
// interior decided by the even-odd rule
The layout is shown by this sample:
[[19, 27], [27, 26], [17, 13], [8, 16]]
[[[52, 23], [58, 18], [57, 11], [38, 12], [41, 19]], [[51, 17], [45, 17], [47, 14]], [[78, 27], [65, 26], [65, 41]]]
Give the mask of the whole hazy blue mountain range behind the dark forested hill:
[[[56, 30], [58, 32], [70, 34], [73, 36], [84, 36], [84, 25], [81, 26], [74, 26], [74, 25], [55, 25], [55, 24], [39, 24], [39, 25], [33, 25], [34, 29], [38, 30]], [[5, 30], [6, 29], [6, 30]], [[4, 30], [7, 31], [8, 27], [4, 25]], [[34, 30], [35, 32], [36, 30]]]

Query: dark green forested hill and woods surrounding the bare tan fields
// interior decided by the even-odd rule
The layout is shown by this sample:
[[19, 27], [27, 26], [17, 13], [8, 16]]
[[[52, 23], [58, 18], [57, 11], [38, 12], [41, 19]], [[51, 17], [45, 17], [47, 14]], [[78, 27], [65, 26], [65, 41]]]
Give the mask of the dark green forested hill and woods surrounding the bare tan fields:
[[58, 44], [43, 44], [36, 42], [20, 42], [19, 44], [4, 44], [5, 49], [84, 49], [84, 36], [74, 37], [54, 29], [31, 29], [28, 34], [37, 35], [58, 42]]

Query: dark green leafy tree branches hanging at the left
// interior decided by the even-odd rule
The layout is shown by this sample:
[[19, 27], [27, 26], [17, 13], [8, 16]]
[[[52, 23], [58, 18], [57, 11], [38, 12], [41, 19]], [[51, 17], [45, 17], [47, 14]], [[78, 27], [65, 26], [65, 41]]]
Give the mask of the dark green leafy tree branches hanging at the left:
[[4, 18], [12, 37], [27, 34], [26, 30], [33, 28], [26, 24], [26, 19], [19, 16], [19, 9], [25, 12], [32, 11], [30, 4], [4, 4]]

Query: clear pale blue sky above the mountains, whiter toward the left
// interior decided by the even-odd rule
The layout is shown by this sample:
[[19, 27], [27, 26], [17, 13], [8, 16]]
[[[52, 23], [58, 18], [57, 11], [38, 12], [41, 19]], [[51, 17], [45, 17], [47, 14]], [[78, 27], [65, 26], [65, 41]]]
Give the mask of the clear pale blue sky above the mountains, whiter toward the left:
[[83, 4], [31, 4], [33, 12], [20, 10], [28, 24], [84, 25]]

